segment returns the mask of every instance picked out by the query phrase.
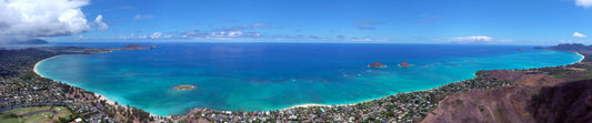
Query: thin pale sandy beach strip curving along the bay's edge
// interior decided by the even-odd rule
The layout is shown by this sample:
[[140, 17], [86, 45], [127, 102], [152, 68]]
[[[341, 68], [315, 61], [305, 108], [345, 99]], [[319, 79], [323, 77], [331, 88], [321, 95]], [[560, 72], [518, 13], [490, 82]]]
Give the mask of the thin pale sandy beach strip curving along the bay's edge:
[[[575, 64], [575, 63], [581, 63], [585, 57], [579, 52], [574, 52], [576, 53], [578, 55], [582, 57], [578, 62], [573, 62], [573, 63], [570, 63], [570, 64]], [[39, 76], [41, 78], [46, 78], [43, 75], [41, 75], [39, 72], [38, 72], [38, 65], [39, 63], [48, 60], [48, 59], [52, 59], [52, 58], [56, 58], [56, 57], [60, 57], [60, 55], [63, 55], [63, 54], [59, 54], [59, 55], [54, 55], [54, 57], [51, 57], [51, 58], [47, 58], [47, 59], [43, 59], [41, 61], [38, 61], [34, 66], [33, 66], [33, 72], [36, 74], [38, 74]], [[564, 65], [569, 65], [569, 64], [564, 64]], [[561, 66], [561, 65], [556, 65], [556, 66]], [[546, 66], [543, 66], [543, 68], [546, 68]], [[476, 72], [473, 73], [473, 75], [475, 74]], [[46, 79], [49, 79], [49, 78], [46, 78]], [[474, 78], [472, 78], [474, 79]], [[53, 79], [50, 79], [50, 80], [53, 80]], [[471, 79], [465, 79], [465, 80], [471, 80]], [[465, 80], [461, 80], [461, 81], [455, 81], [455, 82], [451, 82], [451, 83], [456, 83], [456, 82], [462, 82], [462, 81], [465, 81]], [[54, 80], [53, 80], [54, 81]], [[68, 84], [68, 83], [66, 83]], [[78, 86], [77, 86], [78, 88]], [[438, 86], [440, 88], [440, 86]], [[423, 92], [423, 91], [430, 91], [430, 90], [434, 90], [434, 89], [438, 89], [438, 88], [431, 88], [431, 89], [428, 89], [428, 90], [421, 90], [421, 91], [410, 91], [410, 92], [400, 92], [400, 93], [411, 93], [411, 92]], [[108, 104], [110, 105], [116, 105], [114, 101], [106, 98], [104, 95], [101, 95], [101, 94], [98, 94], [97, 92], [92, 92], [94, 93], [94, 96], [98, 96], [99, 100], [104, 100]], [[287, 110], [292, 110], [292, 109], [299, 109], [299, 107], [333, 107], [333, 106], [351, 106], [351, 105], [357, 105], [357, 104], [362, 104], [362, 103], [368, 103], [368, 102], [372, 102], [372, 101], [375, 101], [375, 100], [380, 100], [380, 99], [384, 99], [384, 98], [388, 98], [388, 96], [392, 96], [392, 95], [398, 95], [400, 93], [397, 93], [397, 94], [389, 94], [389, 95], [384, 95], [384, 96], [381, 96], [381, 98], [375, 98], [375, 99], [370, 99], [370, 100], [365, 100], [365, 101], [362, 101], [362, 102], [357, 102], [357, 103], [347, 103], [347, 104], [318, 104], [318, 103], [304, 103], [304, 104], [298, 104], [298, 105], [293, 105], [293, 106], [288, 106], [288, 107], [283, 107], [283, 109], [277, 109], [277, 110], [268, 110], [268, 111], [287, 111]], [[123, 106], [123, 109], [127, 109]], [[195, 109], [203, 109], [203, 107], [192, 107], [191, 110], [188, 111], [191, 112]], [[228, 111], [228, 110], [217, 110], [217, 111]], [[149, 112], [150, 113], [150, 112]], [[183, 115], [187, 115], [188, 113], [183, 114]], [[157, 115], [157, 114], [152, 114], [150, 113], [151, 116], [164, 116], [164, 117], [170, 117], [170, 115], [173, 115], [173, 114], [169, 114], [169, 115]], [[183, 115], [179, 115], [179, 116], [183, 116]]]

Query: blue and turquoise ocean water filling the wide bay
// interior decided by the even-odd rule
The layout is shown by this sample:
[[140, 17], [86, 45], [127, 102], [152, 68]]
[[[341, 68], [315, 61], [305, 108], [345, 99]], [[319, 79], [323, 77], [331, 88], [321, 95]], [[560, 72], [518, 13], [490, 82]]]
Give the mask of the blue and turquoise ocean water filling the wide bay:
[[[472, 79], [479, 70], [554, 66], [582, 59], [573, 52], [524, 45], [147, 44], [159, 48], [60, 55], [41, 62], [38, 72], [123, 105], [158, 115], [182, 115], [192, 107], [264, 111], [307, 103], [355, 103]], [[375, 61], [388, 66], [368, 68]], [[412, 66], [398, 66], [402, 61]], [[182, 84], [195, 89], [173, 89]]]

